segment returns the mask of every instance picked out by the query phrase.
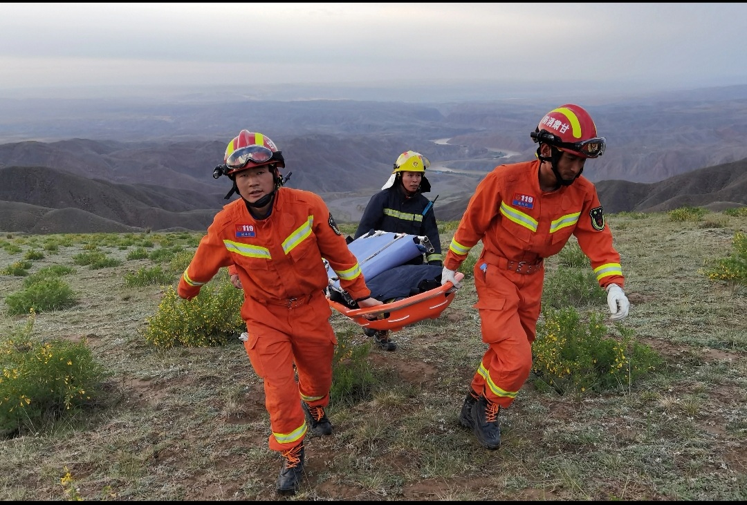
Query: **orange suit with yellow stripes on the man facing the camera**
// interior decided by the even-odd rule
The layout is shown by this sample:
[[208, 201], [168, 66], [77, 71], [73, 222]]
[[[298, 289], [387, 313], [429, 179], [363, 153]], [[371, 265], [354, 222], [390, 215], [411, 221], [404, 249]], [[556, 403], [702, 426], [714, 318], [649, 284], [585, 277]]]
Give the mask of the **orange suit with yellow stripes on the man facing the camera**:
[[244, 348], [264, 380], [273, 451], [287, 451], [306, 436], [300, 400], [311, 407], [329, 404], [337, 339], [323, 292], [329, 277], [322, 258], [353, 298], [368, 298], [358, 261], [323, 200], [280, 188], [265, 219], [253, 218], [241, 198], [223, 207], [179, 281], [179, 296], [193, 298], [221, 267], [235, 265], [249, 333]]

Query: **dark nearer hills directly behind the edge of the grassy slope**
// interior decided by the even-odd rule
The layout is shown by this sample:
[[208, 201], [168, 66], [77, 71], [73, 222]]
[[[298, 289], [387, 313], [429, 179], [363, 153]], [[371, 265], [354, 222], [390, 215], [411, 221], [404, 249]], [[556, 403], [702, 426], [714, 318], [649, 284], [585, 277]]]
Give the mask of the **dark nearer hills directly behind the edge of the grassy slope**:
[[[607, 213], [657, 212], [685, 206], [713, 210], [740, 207], [747, 205], [747, 159], [656, 183], [601, 181], [597, 188]], [[470, 196], [471, 192], [462, 192], [447, 204], [438, 201], [438, 220], [461, 219]], [[214, 196], [186, 189], [164, 191], [149, 184], [115, 184], [48, 167], [0, 169], [0, 231], [206, 230], [220, 205], [226, 203], [222, 200], [215, 205], [214, 201]]]

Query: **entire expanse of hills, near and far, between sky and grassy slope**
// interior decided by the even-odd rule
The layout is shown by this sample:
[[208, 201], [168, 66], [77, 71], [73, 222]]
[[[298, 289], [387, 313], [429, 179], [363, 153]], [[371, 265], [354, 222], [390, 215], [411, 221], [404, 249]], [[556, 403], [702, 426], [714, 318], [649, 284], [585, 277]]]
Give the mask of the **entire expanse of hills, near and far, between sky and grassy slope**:
[[[52, 233], [81, 222], [91, 230], [117, 223], [204, 230], [231, 187], [227, 178], [212, 178], [214, 166], [241, 128], [272, 137], [285, 156], [284, 175], [292, 175], [289, 186], [322, 195], [340, 222], [360, 219], [397, 155], [409, 149], [433, 163], [427, 196], [438, 195], [438, 219], [459, 219], [486, 173], [534, 157], [529, 132], [562, 103], [242, 96], [0, 97], [0, 141], [8, 141], [0, 144], [0, 229]], [[584, 173], [607, 212], [747, 203], [740, 178], [747, 86], [577, 102], [607, 138], [604, 156]], [[50, 210], [65, 209], [76, 212], [30, 225], [28, 216], [57, 220]]]

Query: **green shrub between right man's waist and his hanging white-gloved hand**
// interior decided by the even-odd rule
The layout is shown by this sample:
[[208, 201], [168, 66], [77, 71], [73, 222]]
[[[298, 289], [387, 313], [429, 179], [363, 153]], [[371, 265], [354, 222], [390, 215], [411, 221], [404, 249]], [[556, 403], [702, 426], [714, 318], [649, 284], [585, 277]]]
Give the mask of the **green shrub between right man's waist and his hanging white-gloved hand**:
[[607, 304], [607, 293], [599, 286], [594, 271], [588, 269], [558, 269], [545, 277], [542, 290], [542, 307], [560, 309], [570, 304], [573, 307], [589, 307]]

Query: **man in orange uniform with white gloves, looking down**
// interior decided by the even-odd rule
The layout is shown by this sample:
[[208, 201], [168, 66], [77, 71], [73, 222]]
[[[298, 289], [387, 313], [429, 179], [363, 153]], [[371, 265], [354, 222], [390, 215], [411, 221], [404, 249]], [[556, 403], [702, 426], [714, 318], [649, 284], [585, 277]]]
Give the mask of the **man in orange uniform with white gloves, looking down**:
[[483, 342], [489, 345], [459, 421], [483, 447], [500, 447], [500, 407], [514, 401], [532, 368], [532, 342], [540, 314], [542, 260], [560, 252], [571, 234], [607, 290], [613, 321], [627, 316], [620, 255], [604, 222], [595, 186], [581, 177], [587, 158], [604, 152], [604, 138], [586, 110], [565, 104], [551, 110], [530, 136], [537, 160], [501, 165], [477, 185], [454, 233], [441, 283], [456, 286], [456, 269], [483, 241], [474, 283]]

